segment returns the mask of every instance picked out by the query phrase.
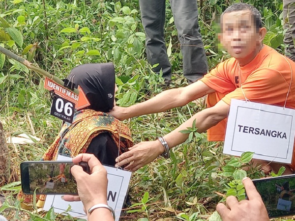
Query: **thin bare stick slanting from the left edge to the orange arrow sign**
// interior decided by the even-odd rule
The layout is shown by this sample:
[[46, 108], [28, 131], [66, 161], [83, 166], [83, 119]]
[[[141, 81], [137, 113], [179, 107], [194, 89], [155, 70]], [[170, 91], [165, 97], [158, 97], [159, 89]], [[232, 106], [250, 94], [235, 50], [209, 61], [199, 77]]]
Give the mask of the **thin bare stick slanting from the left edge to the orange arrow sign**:
[[[47, 71], [44, 71], [43, 69], [33, 65], [31, 62], [29, 62], [28, 60], [26, 60], [25, 58], [23, 57], [20, 57], [19, 55], [16, 55], [12, 52], [10, 52], [9, 50], [3, 48], [0, 46], [0, 52], [3, 53], [4, 55], [7, 55], [8, 57], [11, 57], [13, 59], [15, 59], [16, 61], [22, 63], [23, 65], [25, 65], [26, 67], [28, 67], [29, 69], [51, 79], [52, 81], [54, 81], [55, 83], [58, 83], [59, 85], [61, 86], [64, 86], [64, 82], [62, 80], [60, 80], [58, 77], [52, 75], [52, 74], [49, 74]], [[79, 95], [79, 90], [77, 89], [74, 89], [72, 90], [75, 94], [78, 94]]]

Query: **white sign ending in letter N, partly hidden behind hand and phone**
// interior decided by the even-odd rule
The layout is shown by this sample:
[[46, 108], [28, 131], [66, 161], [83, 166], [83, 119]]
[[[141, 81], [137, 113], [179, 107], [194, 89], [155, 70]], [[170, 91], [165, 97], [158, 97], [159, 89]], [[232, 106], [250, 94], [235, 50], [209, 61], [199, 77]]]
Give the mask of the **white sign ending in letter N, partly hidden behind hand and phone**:
[[[69, 159], [71, 158], [58, 156], [58, 161], [68, 161]], [[108, 172], [109, 180], [107, 190], [108, 205], [115, 210], [115, 221], [118, 221], [132, 173], [111, 166], [104, 167]], [[60, 195], [47, 195], [43, 209], [48, 211], [51, 207], [54, 207], [54, 212], [63, 213], [68, 209], [69, 205], [71, 206], [71, 209], [67, 212], [68, 214], [75, 218], [87, 219], [87, 216], [83, 211], [82, 202], [67, 202], [62, 200]]]

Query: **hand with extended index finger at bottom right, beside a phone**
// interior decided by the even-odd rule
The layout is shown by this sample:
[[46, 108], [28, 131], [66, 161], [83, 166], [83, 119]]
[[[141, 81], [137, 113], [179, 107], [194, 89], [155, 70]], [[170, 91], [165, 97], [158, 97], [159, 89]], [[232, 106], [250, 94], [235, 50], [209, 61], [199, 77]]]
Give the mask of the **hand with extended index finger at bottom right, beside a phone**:
[[237, 201], [235, 196], [226, 199], [226, 205], [219, 203], [217, 212], [223, 221], [269, 221], [266, 207], [250, 178], [244, 178], [243, 184], [249, 200]]

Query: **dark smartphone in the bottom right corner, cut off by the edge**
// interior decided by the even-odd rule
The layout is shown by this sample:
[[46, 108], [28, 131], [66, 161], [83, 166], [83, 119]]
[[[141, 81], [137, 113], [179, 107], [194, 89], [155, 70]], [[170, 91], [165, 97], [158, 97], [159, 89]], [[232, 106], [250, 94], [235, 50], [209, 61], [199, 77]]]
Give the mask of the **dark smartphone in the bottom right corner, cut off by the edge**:
[[295, 215], [295, 174], [253, 180], [269, 218]]

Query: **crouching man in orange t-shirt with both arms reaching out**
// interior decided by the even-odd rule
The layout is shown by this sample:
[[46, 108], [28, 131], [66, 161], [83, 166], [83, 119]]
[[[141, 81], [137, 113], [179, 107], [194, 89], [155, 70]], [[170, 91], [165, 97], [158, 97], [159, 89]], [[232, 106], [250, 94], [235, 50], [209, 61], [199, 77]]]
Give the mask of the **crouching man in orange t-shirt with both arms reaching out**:
[[[192, 127], [194, 120], [199, 133], [207, 130], [208, 140], [223, 140], [231, 99], [247, 98], [284, 106], [287, 98], [286, 107], [295, 108], [295, 77], [292, 78], [295, 63], [264, 45], [265, 35], [266, 28], [262, 27], [261, 14], [255, 7], [245, 3], [233, 4], [221, 15], [221, 33], [218, 34], [232, 58], [217, 65], [196, 83], [166, 90], [128, 108], [115, 107], [111, 114], [122, 120], [184, 106], [208, 94], [207, 109], [196, 113], [159, 140], [134, 145], [117, 159], [117, 166], [126, 165], [126, 169], [135, 171], [160, 154], [168, 157], [169, 148], [188, 138], [188, 134], [179, 131]], [[291, 173], [289, 167], [286, 171]]]

